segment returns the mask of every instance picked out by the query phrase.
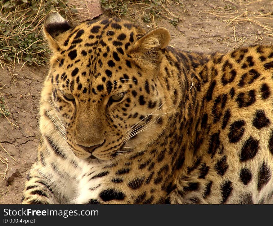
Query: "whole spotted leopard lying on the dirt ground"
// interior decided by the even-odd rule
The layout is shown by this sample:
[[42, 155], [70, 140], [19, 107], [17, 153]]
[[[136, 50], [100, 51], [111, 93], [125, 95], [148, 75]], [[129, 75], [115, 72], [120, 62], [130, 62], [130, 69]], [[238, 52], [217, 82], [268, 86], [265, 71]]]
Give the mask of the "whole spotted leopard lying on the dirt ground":
[[273, 46], [182, 51], [119, 18], [43, 31], [52, 55], [22, 204], [273, 203]]

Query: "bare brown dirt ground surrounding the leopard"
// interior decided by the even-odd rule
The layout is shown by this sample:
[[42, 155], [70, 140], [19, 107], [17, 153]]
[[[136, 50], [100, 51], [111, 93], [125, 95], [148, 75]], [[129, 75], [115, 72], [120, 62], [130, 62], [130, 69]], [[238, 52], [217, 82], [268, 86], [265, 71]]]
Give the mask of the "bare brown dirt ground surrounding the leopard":
[[[171, 33], [170, 45], [187, 51], [228, 52], [241, 45], [273, 42], [272, 1], [167, 2], [170, 12], [181, 19], [176, 26], [163, 15], [156, 17], [152, 24], [144, 24], [140, 19], [141, 8], [134, 4], [130, 14], [123, 18], [138, 21], [147, 30], [166, 27]], [[87, 4], [91, 14], [100, 15], [102, 9], [91, 3]], [[108, 13], [104, 12], [99, 17], [106, 16]], [[0, 115], [0, 157], [8, 164], [6, 171], [7, 164], [0, 162], [0, 204], [20, 203], [25, 177], [37, 153], [39, 93], [48, 67], [24, 66], [20, 70], [21, 66], [16, 65], [14, 71], [0, 67], [0, 97], [2, 94], [11, 113], [7, 116], [10, 122]]]

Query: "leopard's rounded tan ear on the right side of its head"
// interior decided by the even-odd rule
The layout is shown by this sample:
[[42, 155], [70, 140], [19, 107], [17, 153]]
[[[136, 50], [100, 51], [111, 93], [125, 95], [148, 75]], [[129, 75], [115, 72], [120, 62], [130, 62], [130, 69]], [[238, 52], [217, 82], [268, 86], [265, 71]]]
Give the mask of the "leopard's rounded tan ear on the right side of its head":
[[162, 51], [170, 41], [166, 28], [156, 28], [137, 40], [129, 55], [142, 67], [156, 68], [162, 59]]

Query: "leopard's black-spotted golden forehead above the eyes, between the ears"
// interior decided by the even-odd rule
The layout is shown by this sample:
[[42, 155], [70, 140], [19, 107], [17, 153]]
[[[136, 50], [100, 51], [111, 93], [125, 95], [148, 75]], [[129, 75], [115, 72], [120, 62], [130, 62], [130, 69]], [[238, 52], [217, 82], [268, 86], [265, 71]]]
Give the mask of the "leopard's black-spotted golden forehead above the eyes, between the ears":
[[128, 81], [128, 74], [137, 73], [128, 50], [144, 34], [142, 28], [117, 18], [85, 21], [60, 34], [61, 50], [51, 61], [52, 80], [66, 93], [109, 94]]

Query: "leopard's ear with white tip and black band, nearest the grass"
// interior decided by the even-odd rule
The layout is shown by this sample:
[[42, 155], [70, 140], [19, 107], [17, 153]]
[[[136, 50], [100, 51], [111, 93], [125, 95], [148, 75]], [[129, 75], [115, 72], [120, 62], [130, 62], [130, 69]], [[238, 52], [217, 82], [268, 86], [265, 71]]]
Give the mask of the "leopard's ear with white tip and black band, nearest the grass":
[[53, 51], [60, 51], [65, 46], [67, 33], [72, 28], [59, 13], [53, 12], [45, 18], [44, 35]]

